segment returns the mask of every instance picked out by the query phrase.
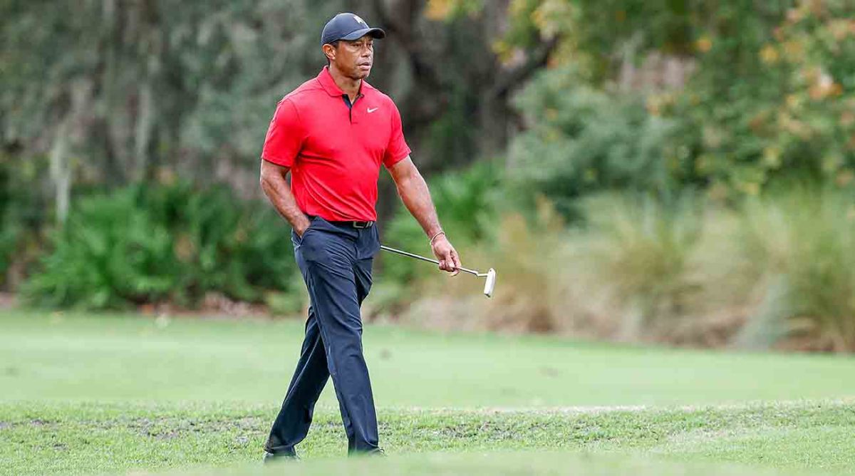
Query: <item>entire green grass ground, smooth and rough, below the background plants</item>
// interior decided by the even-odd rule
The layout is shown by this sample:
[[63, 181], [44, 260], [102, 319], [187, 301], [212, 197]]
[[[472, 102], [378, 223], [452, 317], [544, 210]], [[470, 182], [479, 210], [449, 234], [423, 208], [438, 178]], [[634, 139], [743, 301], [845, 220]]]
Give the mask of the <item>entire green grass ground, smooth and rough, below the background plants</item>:
[[[0, 474], [259, 473], [301, 332], [0, 312]], [[330, 385], [289, 472], [855, 472], [849, 357], [390, 326], [365, 349], [392, 457], [339, 458]]]

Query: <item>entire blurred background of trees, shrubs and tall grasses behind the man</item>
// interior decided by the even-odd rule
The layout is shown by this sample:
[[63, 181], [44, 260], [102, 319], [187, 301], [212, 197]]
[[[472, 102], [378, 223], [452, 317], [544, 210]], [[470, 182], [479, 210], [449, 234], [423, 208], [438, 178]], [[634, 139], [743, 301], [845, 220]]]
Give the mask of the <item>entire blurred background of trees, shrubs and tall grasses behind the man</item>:
[[[475, 279], [381, 256], [369, 319], [855, 350], [851, 0], [6, 0], [0, 289], [22, 303], [295, 315], [262, 200], [275, 103], [323, 23], [371, 81]], [[428, 253], [393, 184], [386, 244]]]

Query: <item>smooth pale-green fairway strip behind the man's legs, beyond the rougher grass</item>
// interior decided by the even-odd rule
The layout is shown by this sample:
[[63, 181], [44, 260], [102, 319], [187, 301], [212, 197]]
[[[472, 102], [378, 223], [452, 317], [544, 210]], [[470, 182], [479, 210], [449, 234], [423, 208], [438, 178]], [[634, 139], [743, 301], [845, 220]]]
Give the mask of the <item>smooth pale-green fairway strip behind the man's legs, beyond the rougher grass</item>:
[[[298, 321], [0, 314], [3, 400], [279, 402]], [[380, 408], [548, 408], [855, 396], [848, 356], [726, 353], [367, 326]], [[322, 397], [338, 408], [331, 386]]]

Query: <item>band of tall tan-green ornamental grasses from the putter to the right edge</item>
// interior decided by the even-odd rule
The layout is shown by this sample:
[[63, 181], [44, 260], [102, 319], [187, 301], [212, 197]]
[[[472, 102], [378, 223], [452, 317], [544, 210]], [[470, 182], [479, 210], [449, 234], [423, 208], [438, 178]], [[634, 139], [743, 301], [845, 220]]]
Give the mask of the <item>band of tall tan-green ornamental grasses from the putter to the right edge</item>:
[[565, 230], [504, 213], [461, 252], [480, 280], [426, 274], [404, 320], [445, 328], [801, 350], [855, 350], [855, 201], [839, 190], [769, 192], [730, 209], [692, 195], [591, 197]]

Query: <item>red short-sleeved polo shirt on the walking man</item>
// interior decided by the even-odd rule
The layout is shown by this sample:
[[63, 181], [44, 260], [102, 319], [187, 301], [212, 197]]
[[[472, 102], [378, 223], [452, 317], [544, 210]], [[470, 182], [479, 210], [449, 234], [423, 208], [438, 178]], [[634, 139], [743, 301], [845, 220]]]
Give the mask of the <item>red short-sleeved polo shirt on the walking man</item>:
[[305, 214], [377, 220], [380, 163], [410, 155], [392, 98], [363, 80], [348, 108], [328, 68], [284, 97], [262, 159], [291, 168], [291, 191]]

